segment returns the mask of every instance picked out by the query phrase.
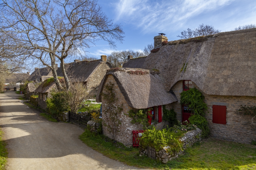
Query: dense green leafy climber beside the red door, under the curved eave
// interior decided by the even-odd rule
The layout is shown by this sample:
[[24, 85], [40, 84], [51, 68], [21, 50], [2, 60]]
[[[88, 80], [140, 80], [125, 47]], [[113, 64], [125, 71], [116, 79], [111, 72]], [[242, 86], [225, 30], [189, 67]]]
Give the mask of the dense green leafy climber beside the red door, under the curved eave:
[[191, 88], [187, 91], [181, 92], [180, 104], [187, 105], [192, 109], [192, 113], [195, 115], [204, 116], [208, 107], [204, 102], [205, 97], [203, 94], [196, 88]]

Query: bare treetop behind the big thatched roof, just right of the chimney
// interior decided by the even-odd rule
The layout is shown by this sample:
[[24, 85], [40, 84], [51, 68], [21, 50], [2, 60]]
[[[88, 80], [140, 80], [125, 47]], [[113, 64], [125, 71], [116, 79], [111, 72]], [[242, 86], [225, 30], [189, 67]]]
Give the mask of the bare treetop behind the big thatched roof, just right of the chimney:
[[220, 30], [215, 29], [212, 25], [200, 24], [196, 29], [191, 30], [188, 28], [181, 32], [181, 35], [177, 35], [180, 39], [189, 39], [197, 36], [205, 36], [219, 33]]

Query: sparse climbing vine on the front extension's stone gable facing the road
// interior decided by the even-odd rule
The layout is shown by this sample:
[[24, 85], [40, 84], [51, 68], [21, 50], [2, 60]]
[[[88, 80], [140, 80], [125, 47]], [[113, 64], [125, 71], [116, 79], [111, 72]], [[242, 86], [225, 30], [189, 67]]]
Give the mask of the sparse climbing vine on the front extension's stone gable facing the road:
[[102, 98], [104, 99], [104, 120], [103, 125], [107, 128], [111, 134], [111, 138], [114, 139], [117, 132], [119, 132], [119, 126], [121, 124], [121, 113], [123, 111], [123, 104], [116, 104], [118, 98], [113, 89], [114, 84], [108, 83], [104, 86], [104, 92], [102, 92]]

